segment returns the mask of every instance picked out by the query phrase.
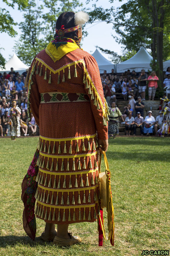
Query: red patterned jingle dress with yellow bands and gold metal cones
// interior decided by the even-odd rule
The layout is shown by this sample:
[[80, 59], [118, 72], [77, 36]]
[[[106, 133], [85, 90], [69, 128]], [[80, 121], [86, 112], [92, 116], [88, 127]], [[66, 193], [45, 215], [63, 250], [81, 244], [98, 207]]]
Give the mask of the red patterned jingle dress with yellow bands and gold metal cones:
[[58, 49], [50, 43], [38, 53], [30, 73], [28, 109], [40, 131], [35, 214], [55, 224], [94, 222], [97, 138], [108, 138], [107, 105], [94, 57], [74, 41]]

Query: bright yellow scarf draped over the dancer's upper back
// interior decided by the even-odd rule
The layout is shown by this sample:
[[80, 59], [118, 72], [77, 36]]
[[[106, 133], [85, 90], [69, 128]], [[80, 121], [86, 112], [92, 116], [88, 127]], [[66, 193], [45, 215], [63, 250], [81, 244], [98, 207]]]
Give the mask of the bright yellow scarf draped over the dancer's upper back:
[[72, 40], [72, 43], [67, 42], [66, 44], [61, 44], [57, 49], [53, 43], [49, 43], [45, 50], [55, 62], [56, 60], [61, 59], [65, 54], [70, 53], [77, 48], [80, 47], [74, 42], [74, 40]]

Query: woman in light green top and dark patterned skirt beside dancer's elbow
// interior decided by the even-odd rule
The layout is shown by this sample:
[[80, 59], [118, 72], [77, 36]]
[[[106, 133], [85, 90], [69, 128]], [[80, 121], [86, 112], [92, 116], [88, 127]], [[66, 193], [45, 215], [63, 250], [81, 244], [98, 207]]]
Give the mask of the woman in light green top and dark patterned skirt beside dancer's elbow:
[[112, 102], [111, 108], [108, 109], [109, 115], [109, 122], [108, 122], [108, 138], [113, 137], [115, 139], [116, 135], [119, 135], [119, 116], [122, 117], [122, 113], [120, 112], [119, 108], [116, 107], [116, 102]]

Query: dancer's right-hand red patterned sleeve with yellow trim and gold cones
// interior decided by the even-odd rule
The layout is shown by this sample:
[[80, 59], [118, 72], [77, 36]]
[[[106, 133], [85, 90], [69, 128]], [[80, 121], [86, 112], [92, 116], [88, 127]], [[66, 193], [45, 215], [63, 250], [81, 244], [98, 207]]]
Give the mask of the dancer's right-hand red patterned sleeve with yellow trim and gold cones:
[[[85, 61], [85, 74], [86, 74], [86, 84], [85, 90], [90, 98], [91, 109], [95, 118], [98, 139], [106, 140], [108, 139], [108, 125], [106, 120], [106, 105], [103, 93], [102, 82], [100, 78], [100, 72], [98, 64], [95, 58], [91, 55], [84, 57]], [[84, 81], [85, 82], [85, 81]], [[87, 88], [88, 87], [88, 88]], [[89, 90], [90, 87], [90, 90]], [[92, 94], [94, 99], [92, 99]], [[96, 100], [95, 100], [96, 98]], [[97, 102], [97, 105], [96, 105]], [[105, 119], [105, 124], [103, 123]]]

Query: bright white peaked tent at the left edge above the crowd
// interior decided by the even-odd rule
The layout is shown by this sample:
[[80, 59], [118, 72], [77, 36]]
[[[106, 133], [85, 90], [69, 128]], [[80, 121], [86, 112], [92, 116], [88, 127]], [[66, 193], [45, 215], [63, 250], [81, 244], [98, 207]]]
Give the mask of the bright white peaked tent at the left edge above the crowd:
[[26, 66], [14, 53], [11, 59], [6, 62], [5, 69], [0, 69], [0, 72], [9, 73], [11, 68], [13, 68], [15, 72], [19, 72], [19, 74], [21, 74], [28, 69], [28, 66]]

